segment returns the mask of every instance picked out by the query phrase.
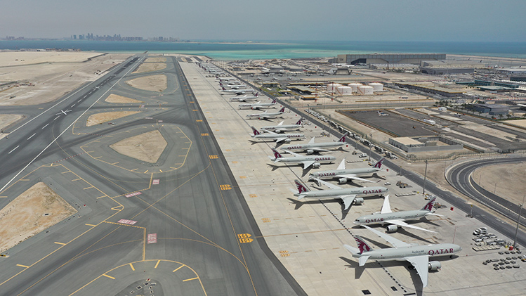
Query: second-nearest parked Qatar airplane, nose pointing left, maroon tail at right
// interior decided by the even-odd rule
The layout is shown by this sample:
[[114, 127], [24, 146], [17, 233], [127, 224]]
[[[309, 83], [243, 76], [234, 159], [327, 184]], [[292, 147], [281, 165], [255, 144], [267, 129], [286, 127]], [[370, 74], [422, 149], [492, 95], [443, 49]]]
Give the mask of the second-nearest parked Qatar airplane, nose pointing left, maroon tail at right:
[[421, 208], [421, 210], [402, 211], [393, 213], [389, 204], [389, 195], [387, 195], [386, 198], [383, 200], [382, 209], [379, 213], [359, 217], [354, 221], [354, 224], [391, 224], [387, 226], [387, 232], [395, 232], [397, 231], [399, 226], [402, 226], [436, 233], [436, 231], [430, 231], [404, 222], [407, 220], [419, 220], [422, 217], [426, 217], [428, 215], [442, 216], [431, 212], [431, 210], [433, 210], [433, 203], [435, 203], [436, 199], [436, 196], [431, 198], [431, 200], [429, 200], [429, 202], [426, 203], [426, 205], [424, 205]]

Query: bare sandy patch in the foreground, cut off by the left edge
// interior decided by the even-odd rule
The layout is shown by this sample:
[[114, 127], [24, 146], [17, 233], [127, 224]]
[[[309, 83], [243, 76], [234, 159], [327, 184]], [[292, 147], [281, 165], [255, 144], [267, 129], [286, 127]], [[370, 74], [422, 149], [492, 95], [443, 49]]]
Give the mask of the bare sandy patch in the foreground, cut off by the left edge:
[[77, 212], [51, 188], [39, 182], [0, 210], [0, 252]]

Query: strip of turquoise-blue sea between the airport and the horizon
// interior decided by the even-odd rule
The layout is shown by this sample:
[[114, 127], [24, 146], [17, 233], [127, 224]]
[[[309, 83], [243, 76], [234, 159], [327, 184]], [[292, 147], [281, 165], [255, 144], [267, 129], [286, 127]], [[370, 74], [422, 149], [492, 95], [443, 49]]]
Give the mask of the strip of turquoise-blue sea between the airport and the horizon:
[[526, 58], [526, 42], [262, 41], [228, 44], [211, 41], [192, 43], [88, 40], [0, 41], [0, 50], [47, 48], [131, 53], [143, 51], [188, 53], [222, 60], [334, 57], [345, 53], [450, 53]]

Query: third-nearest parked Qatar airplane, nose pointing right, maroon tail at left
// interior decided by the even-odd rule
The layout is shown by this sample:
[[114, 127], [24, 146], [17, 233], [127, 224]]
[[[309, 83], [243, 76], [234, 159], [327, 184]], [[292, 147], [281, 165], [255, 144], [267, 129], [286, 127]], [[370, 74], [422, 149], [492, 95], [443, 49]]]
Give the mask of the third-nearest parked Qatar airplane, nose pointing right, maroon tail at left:
[[325, 184], [331, 189], [320, 190], [320, 191], [310, 191], [298, 180], [294, 180], [296, 188], [298, 188], [298, 193], [294, 193], [294, 196], [298, 197], [298, 200], [303, 198], [339, 198], [343, 200], [343, 205], [345, 205], [345, 210], [347, 210], [350, 205], [362, 205], [364, 203], [363, 198], [357, 198], [358, 195], [381, 195], [386, 193], [388, 188], [374, 186], [374, 187], [361, 187], [361, 188], [341, 188], [336, 185], [327, 183], [320, 179], [317, 179], [322, 184]]

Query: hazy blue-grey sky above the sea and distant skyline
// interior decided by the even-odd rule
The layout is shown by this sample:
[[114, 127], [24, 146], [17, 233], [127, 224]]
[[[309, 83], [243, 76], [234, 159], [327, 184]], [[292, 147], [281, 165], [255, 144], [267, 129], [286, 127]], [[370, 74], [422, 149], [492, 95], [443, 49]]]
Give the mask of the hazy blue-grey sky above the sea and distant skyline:
[[2, 0], [0, 37], [525, 41], [526, 0]]

